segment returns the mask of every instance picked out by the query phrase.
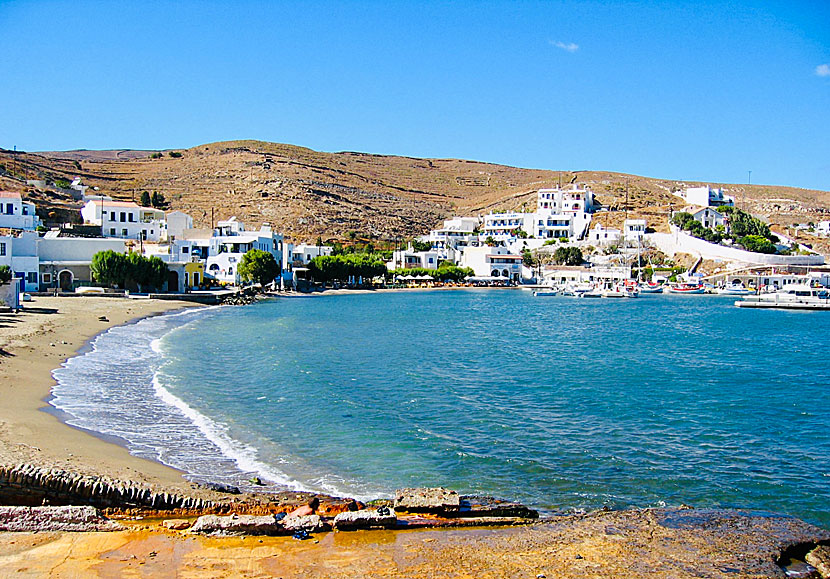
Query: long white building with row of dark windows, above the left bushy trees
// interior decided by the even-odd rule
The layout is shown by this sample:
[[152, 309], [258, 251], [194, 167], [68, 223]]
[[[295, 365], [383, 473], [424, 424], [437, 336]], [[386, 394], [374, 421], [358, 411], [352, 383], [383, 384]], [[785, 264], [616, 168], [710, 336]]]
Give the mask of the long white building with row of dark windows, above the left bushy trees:
[[81, 209], [84, 223], [101, 226], [104, 237], [159, 241], [167, 238], [164, 211], [140, 207], [132, 201], [113, 201], [100, 195]]

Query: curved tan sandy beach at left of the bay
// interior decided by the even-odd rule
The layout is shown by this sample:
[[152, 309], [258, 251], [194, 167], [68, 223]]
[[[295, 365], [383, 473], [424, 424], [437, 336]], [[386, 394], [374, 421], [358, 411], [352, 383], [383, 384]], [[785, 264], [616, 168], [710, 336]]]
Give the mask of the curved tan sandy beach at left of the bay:
[[180, 472], [131, 456], [124, 447], [68, 426], [43, 411], [54, 385], [52, 370], [91, 338], [113, 326], [188, 304], [36, 296], [24, 305], [17, 314], [0, 313], [0, 464], [30, 463], [189, 489]]

